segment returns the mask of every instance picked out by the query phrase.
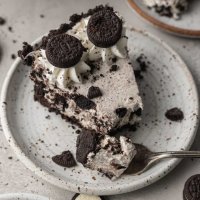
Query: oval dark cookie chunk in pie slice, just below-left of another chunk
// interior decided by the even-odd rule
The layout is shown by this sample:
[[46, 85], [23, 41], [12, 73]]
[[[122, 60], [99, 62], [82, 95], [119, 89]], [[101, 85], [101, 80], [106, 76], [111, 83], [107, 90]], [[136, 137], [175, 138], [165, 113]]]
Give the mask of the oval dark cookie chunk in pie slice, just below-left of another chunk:
[[83, 95], [76, 95], [74, 97], [76, 105], [83, 110], [95, 109], [96, 104]]

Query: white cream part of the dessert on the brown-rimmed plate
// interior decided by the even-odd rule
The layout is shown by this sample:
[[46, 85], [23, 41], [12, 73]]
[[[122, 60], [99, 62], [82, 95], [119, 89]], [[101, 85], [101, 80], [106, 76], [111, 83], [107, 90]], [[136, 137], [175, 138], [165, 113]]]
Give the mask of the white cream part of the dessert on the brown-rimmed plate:
[[171, 12], [173, 13], [173, 17], [175, 19], [179, 18], [179, 14], [181, 12], [180, 9], [177, 8], [177, 5], [182, 5], [185, 9], [187, 9], [188, 6], [187, 0], [143, 0], [143, 2], [148, 7], [171, 7]]

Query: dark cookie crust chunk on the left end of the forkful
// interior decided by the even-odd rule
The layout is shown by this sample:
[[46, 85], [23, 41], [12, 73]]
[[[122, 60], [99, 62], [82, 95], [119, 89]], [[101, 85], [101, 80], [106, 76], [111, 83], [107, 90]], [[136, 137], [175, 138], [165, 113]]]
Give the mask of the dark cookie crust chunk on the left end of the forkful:
[[87, 162], [87, 155], [95, 151], [98, 142], [98, 136], [94, 132], [83, 131], [76, 141], [76, 159], [83, 165]]

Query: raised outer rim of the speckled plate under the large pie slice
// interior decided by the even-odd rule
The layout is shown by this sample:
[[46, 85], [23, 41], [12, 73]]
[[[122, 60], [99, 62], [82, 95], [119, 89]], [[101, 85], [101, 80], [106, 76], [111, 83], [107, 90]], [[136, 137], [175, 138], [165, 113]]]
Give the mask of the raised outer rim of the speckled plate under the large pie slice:
[[[184, 71], [184, 73], [185, 73], [186, 77], [188, 78], [188, 81], [191, 85], [191, 91], [193, 94], [193, 98], [196, 100], [195, 101], [196, 105], [194, 106], [195, 107], [194, 112], [199, 114], [199, 101], [198, 101], [197, 88], [196, 88], [196, 85], [194, 83], [193, 77], [192, 77], [189, 69], [187, 68], [187, 66], [183, 62], [183, 60], [180, 58], [180, 56], [171, 47], [169, 47], [164, 41], [157, 38], [156, 36], [153, 36], [152, 34], [146, 32], [146, 31], [139, 31], [139, 30], [135, 30], [134, 28], [130, 28], [130, 27], [129, 27], [129, 29], [131, 31], [137, 31], [137, 32], [143, 34], [144, 36], [151, 38], [152, 40], [154, 40], [155, 42], [157, 42], [161, 46], [163, 46], [163, 48], [165, 48], [168, 52], [170, 52], [176, 56], [177, 62], [180, 63], [180, 67]], [[35, 42], [33, 42], [33, 44], [38, 43], [40, 41], [41, 41], [41, 37], [39, 39], [37, 39]], [[133, 190], [140, 189], [142, 187], [145, 187], [147, 185], [150, 185], [150, 184], [156, 182], [157, 180], [164, 177], [167, 173], [169, 173], [172, 169], [174, 169], [174, 167], [177, 166], [178, 163], [181, 161], [180, 159], [171, 159], [165, 167], [163, 167], [163, 168], [157, 170], [155, 173], [151, 174], [151, 180], [149, 182], [147, 182], [147, 177], [141, 178], [137, 184], [121, 185], [120, 190], [119, 190], [118, 186], [113, 187], [112, 190], [111, 189], [101, 189], [101, 188], [96, 188], [96, 189], [93, 188], [92, 189], [92, 188], [89, 188], [87, 184], [84, 184], [81, 187], [79, 187], [79, 185], [77, 185], [77, 184], [65, 182], [65, 181], [59, 179], [58, 177], [55, 177], [55, 176], [49, 174], [48, 172], [43, 171], [40, 167], [35, 165], [35, 163], [32, 162], [29, 159], [29, 157], [27, 157], [24, 154], [24, 152], [20, 149], [20, 147], [18, 146], [18, 144], [15, 141], [15, 138], [12, 135], [12, 132], [11, 132], [9, 124], [8, 124], [7, 113], [6, 113], [6, 104], [4, 102], [6, 102], [6, 99], [7, 99], [8, 86], [9, 86], [12, 76], [15, 73], [15, 70], [20, 62], [21, 62], [20, 58], [17, 58], [14, 61], [13, 65], [11, 66], [10, 70], [8, 71], [8, 74], [5, 78], [5, 81], [4, 81], [4, 84], [2, 87], [1, 102], [0, 102], [0, 104], [1, 104], [0, 114], [1, 114], [2, 128], [3, 128], [4, 134], [6, 136], [6, 139], [8, 140], [10, 146], [13, 148], [14, 152], [17, 154], [18, 158], [25, 164], [25, 166], [27, 168], [29, 168], [36, 175], [43, 178], [47, 182], [50, 182], [51, 184], [61, 187], [63, 189], [67, 189], [67, 190], [77, 192], [77, 193], [87, 193], [87, 194], [96, 194], [96, 195], [97, 194], [98, 195], [121, 194], [121, 193], [131, 192]], [[190, 139], [188, 140], [188, 143], [186, 143], [185, 146], [183, 146], [183, 148], [185, 150], [189, 149], [194, 141], [196, 131], [198, 128], [199, 120], [197, 118], [195, 118], [195, 120], [191, 121], [191, 123], [193, 124], [192, 127], [194, 127], [194, 128], [191, 131], [191, 136], [190, 136]], [[163, 173], [163, 172], [166, 172], [166, 173]]]

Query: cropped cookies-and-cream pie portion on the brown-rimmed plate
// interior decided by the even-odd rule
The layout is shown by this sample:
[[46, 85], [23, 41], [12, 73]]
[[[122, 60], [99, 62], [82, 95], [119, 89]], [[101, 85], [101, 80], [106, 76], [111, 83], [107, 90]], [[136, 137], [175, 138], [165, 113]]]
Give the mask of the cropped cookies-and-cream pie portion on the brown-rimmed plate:
[[188, 7], [187, 0], [143, 0], [144, 4], [149, 8], [155, 8], [161, 15], [171, 14], [173, 18], [178, 19], [181, 12]]

